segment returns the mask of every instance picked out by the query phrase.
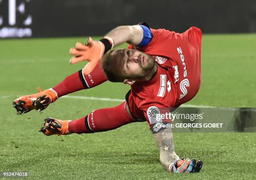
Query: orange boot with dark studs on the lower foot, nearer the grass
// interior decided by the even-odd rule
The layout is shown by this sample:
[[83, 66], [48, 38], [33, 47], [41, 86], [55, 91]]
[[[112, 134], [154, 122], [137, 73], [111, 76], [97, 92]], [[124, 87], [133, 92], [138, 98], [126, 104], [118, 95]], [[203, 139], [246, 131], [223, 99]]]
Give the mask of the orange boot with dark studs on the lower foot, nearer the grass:
[[42, 127], [39, 132], [44, 133], [44, 135], [68, 135], [69, 128], [68, 123], [71, 120], [57, 120], [51, 117], [44, 119], [44, 127]]

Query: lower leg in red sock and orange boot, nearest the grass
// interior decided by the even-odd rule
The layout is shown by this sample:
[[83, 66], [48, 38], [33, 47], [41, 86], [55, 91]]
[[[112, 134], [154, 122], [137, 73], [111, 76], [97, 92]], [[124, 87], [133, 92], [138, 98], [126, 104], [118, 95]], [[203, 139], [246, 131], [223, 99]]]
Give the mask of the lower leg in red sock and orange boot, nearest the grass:
[[41, 132], [45, 135], [67, 135], [70, 133], [96, 133], [119, 128], [122, 125], [135, 122], [133, 117], [128, 115], [126, 102], [111, 107], [94, 110], [85, 117], [77, 120], [56, 120], [46, 118]]

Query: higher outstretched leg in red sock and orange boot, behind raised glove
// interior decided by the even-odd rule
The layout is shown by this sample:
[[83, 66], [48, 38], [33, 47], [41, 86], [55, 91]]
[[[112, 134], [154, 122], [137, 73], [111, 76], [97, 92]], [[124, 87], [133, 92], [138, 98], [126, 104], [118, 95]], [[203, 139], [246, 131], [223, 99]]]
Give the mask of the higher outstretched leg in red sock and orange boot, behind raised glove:
[[82, 70], [79, 70], [50, 89], [33, 95], [19, 97], [14, 100], [13, 107], [17, 110], [17, 114], [26, 113], [33, 109], [41, 111], [61, 96], [95, 87], [106, 80], [104, 72], [101, 69], [100, 64], [98, 64], [89, 75], [84, 75]]

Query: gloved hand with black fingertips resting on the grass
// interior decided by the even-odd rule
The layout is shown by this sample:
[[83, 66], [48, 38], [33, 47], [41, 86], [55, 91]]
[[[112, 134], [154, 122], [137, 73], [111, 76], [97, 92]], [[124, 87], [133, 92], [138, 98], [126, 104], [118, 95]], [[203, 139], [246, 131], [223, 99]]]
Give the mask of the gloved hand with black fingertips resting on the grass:
[[177, 160], [169, 166], [172, 173], [198, 173], [202, 168], [202, 161], [196, 159]]

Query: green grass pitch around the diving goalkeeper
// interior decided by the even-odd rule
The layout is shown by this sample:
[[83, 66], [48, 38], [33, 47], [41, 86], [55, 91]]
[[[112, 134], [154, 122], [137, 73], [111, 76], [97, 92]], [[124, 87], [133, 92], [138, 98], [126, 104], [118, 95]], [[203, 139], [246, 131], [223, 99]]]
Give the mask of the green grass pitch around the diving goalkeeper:
[[[95, 37], [96, 39], [98, 37]], [[50, 88], [84, 66], [69, 65], [69, 48], [86, 37], [0, 40], [0, 171], [28, 179], [255, 179], [255, 133], [174, 133], [179, 157], [204, 162], [197, 174], [169, 174], [146, 122], [104, 133], [46, 137], [44, 117], [74, 120], [119, 102], [60, 98], [42, 112], [16, 115], [20, 95]], [[126, 46], [123, 46], [126, 47]], [[192, 105], [255, 107], [256, 34], [204, 35], [202, 84]], [[72, 95], [124, 99], [129, 87], [105, 82]]]

